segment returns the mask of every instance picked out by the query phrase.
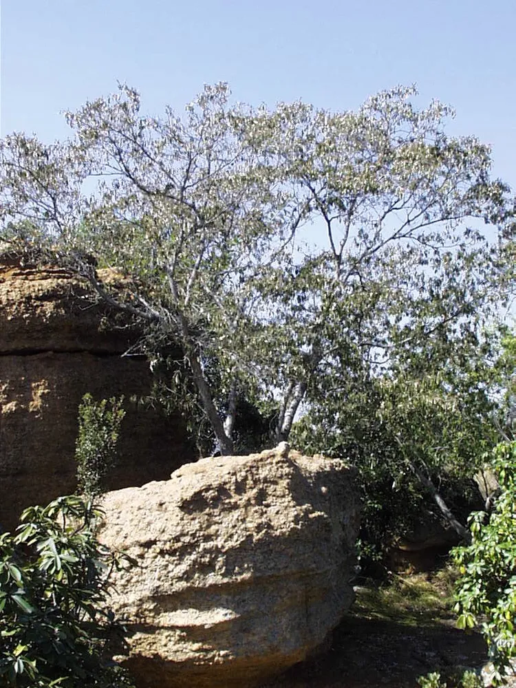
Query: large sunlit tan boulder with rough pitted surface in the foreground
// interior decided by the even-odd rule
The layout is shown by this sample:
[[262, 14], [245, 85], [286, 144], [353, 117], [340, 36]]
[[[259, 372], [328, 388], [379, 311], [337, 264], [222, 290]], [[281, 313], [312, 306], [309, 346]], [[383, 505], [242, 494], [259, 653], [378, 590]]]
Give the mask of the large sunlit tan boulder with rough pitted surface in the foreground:
[[283, 449], [203, 459], [105, 495], [100, 540], [140, 688], [258, 685], [303, 660], [352, 601], [358, 503], [341, 460]]

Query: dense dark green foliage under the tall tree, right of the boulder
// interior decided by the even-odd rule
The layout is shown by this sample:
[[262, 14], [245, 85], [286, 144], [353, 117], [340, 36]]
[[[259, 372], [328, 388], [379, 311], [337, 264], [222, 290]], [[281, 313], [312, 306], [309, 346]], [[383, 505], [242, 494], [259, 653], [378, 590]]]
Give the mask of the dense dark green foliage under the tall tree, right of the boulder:
[[424, 367], [414, 352], [394, 370], [328, 384], [292, 429], [295, 446], [349, 458], [358, 468], [364, 562], [381, 559], [396, 536], [417, 530], [422, 520], [447, 524], [429, 484], [464, 522], [471, 506], [480, 506], [471, 478], [496, 438], [491, 373], [480, 369], [481, 347], [470, 348], [471, 371], [448, 351], [437, 356], [429, 342], [432, 349], [436, 360]]

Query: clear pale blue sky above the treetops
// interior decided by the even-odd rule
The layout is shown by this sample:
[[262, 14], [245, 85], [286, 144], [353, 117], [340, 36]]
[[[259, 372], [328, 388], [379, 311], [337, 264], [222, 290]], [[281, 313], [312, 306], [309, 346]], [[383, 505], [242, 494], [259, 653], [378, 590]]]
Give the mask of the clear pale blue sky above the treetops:
[[219, 80], [330, 109], [415, 82], [516, 186], [515, 27], [516, 0], [1, 0], [1, 133], [63, 137], [60, 111], [117, 80], [153, 113]]

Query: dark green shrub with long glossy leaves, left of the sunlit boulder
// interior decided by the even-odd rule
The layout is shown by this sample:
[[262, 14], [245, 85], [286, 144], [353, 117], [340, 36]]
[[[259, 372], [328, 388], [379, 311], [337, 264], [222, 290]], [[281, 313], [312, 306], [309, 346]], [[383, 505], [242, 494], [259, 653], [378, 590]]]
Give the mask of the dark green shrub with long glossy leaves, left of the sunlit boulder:
[[106, 608], [120, 557], [95, 539], [101, 516], [80, 497], [59, 497], [0, 535], [1, 687], [131, 685], [104, 656], [121, 632]]

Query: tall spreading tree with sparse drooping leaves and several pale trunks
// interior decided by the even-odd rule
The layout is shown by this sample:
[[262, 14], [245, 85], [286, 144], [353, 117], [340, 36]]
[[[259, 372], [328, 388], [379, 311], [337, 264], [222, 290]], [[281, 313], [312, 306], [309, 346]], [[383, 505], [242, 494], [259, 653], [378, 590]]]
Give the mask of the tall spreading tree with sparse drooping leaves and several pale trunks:
[[67, 114], [72, 140], [3, 139], [3, 236], [145, 323], [153, 361], [180, 343], [183, 389], [222, 453], [239, 398], [276, 405], [284, 440], [330, 383], [453, 348], [499, 297], [478, 221], [506, 226], [508, 189], [489, 177], [488, 147], [447, 136], [451, 110], [417, 110], [415, 94], [381, 92], [356, 112], [268, 110], [231, 104], [219, 84], [183, 118], [154, 118], [120, 86]]

